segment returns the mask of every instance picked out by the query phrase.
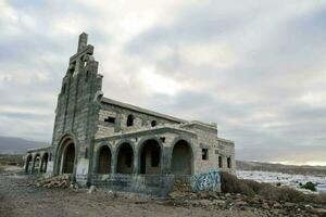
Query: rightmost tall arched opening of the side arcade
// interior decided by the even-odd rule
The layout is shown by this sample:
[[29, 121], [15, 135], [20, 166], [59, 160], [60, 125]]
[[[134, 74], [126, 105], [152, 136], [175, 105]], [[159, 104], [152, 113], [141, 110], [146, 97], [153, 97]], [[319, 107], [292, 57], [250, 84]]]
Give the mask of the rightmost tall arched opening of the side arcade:
[[172, 174], [191, 175], [192, 151], [185, 140], [178, 141], [172, 152]]

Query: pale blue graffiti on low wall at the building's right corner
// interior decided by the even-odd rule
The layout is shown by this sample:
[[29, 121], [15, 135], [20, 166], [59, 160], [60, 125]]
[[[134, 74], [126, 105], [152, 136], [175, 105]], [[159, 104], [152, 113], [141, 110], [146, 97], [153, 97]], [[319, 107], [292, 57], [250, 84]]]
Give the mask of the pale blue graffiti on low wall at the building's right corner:
[[193, 191], [220, 191], [220, 171], [212, 169], [206, 173], [193, 175], [190, 183]]

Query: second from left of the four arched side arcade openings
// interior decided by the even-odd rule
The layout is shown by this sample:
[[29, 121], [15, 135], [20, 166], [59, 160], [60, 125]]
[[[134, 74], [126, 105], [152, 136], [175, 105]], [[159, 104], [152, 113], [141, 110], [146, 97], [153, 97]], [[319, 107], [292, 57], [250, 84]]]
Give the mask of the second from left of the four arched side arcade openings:
[[133, 174], [134, 151], [129, 143], [123, 143], [117, 153], [117, 174]]

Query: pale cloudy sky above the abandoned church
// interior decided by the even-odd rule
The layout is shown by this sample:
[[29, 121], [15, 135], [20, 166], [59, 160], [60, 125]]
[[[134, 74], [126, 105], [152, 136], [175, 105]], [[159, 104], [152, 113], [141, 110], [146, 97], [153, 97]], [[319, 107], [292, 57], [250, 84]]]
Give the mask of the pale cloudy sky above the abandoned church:
[[0, 135], [51, 141], [82, 31], [104, 95], [217, 123], [239, 159], [326, 165], [326, 2], [2, 0]]

